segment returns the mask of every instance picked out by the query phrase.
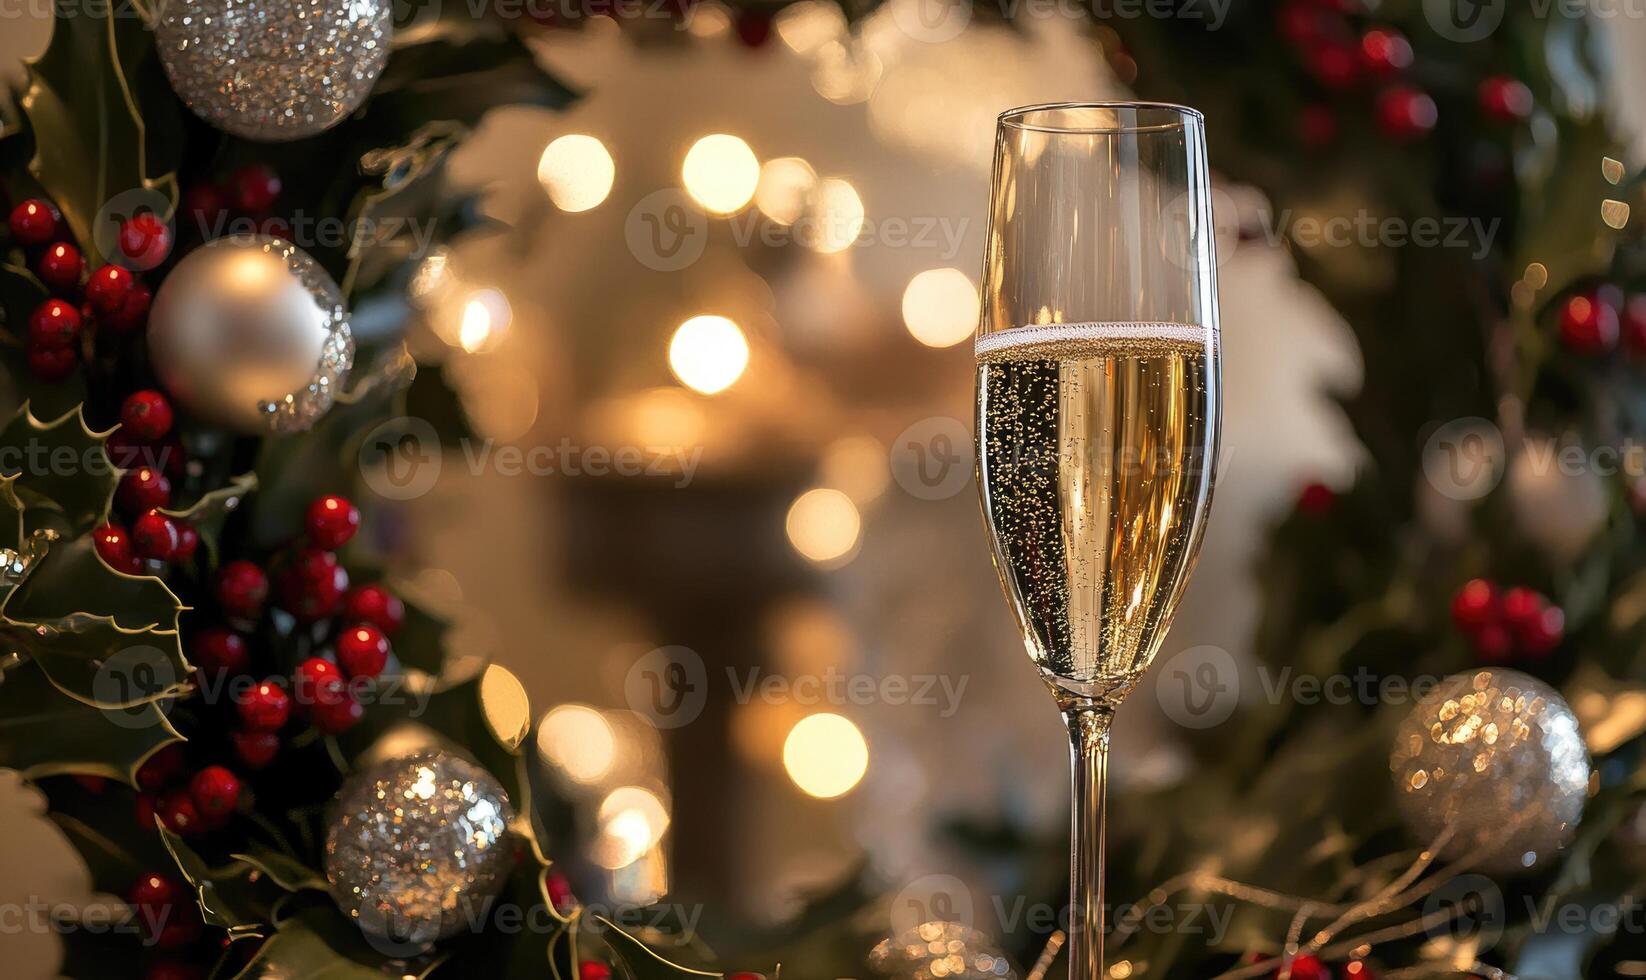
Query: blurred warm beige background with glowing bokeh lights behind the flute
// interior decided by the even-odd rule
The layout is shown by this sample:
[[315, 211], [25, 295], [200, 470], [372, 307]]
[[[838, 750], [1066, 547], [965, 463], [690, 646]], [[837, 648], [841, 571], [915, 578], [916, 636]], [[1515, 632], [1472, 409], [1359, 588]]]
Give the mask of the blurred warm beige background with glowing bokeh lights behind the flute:
[[[497, 646], [533, 705], [558, 705], [540, 746], [574, 759], [553, 777], [579, 800], [574, 843], [561, 847], [614, 896], [667, 889], [769, 919], [864, 856], [890, 880], [955, 871], [932, 843], [940, 817], [1047, 833], [1065, 820], [1060, 725], [997, 593], [969, 446], [943, 436], [971, 428], [996, 112], [1126, 89], [1083, 21], [971, 23], [933, 43], [900, 28], [918, 15], [900, 3], [848, 30], [831, 5], [807, 2], [767, 38], [713, 2], [690, 30], [596, 18], [543, 31], [545, 63], [586, 97], [560, 115], [489, 119], [459, 173], [512, 229], [425, 267], [438, 334], [425, 343], [482, 436], [701, 451], [690, 481], [466, 473], [458, 453], [400, 511], [405, 567], [467, 609], [459, 642]], [[1610, 38], [1646, 51], [1638, 20]], [[12, 71], [43, 41], [43, 25], [8, 21]], [[1620, 69], [1620, 91], [1643, 91], [1646, 59]], [[1646, 102], [1633, 109], [1646, 120]], [[741, 145], [706, 143], [706, 176], [683, 178], [711, 133]], [[584, 138], [555, 143], [568, 135]], [[1211, 155], [1216, 166], [1216, 145]], [[701, 222], [696, 262], [657, 270], [630, 245], [657, 214], [649, 196], [681, 184], [736, 212]], [[1225, 211], [1253, 206], [1226, 189]], [[821, 234], [782, 234], [797, 221]], [[853, 242], [859, 221], [869, 231]], [[899, 222], [933, 236], [895, 240]], [[1284, 250], [1226, 244], [1225, 464], [1162, 659], [1197, 644], [1239, 656], [1269, 519], [1300, 483], [1355, 464], [1322, 395], [1358, 376], [1346, 333]], [[672, 362], [672, 338], [695, 316], [731, 326], [700, 321]], [[922, 483], [920, 466], [945, 456], [961, 460], [955, 476]], [[808, 494], [818, 489], [831, 492]], [[696, 721], [660, 736], [629, 712], [625, 682], [649, 651], [677, 644], [704, 664], [708, 698]], [[741, 703], [728, 669], [790, 682], [940, 675], [963, 693], [953, 705]], [[820, 712], [844, 721], [802, 726]], [[1179, 735], [1139, 692], [1116, 735], [1121, 786], [1182, 779]], [[0, 781], [0, 899], [84, 901], [71, 850], [35, 807]], [[8, 975], [54, 975], [49, 937], [3, 944]]]

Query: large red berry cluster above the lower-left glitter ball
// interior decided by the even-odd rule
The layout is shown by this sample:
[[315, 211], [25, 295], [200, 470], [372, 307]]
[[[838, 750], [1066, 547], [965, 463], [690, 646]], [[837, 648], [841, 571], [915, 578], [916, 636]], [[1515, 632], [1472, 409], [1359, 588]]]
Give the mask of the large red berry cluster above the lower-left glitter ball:
[[[323, 656], [303, 659], [290, 674], [270, 675], [234, 690], [235, 754], [250, 769], [268, 766], [280, 751], [280, 733], [300, 718], [321, 735], [352, 728], [364, 715], [362, 695], [388, 665], [390, 636], [405, 621], [405, 604], [380, 585], [349, 588], [337, 560], [360, 525], [347, 499], [323, 496], [306, 516], [305, 537], [275, 562], [273, 581], [262, 565], [235, 560], [217, 570], [212, 591], [222, 624], [194, 634], [191, 654], [216, 682], [245, 680], [252, 670], [247, 632], [257, 629], [270, 598], [316, 636], [329, 639]], [[331, 631], [326, 621], [339, 628]]]

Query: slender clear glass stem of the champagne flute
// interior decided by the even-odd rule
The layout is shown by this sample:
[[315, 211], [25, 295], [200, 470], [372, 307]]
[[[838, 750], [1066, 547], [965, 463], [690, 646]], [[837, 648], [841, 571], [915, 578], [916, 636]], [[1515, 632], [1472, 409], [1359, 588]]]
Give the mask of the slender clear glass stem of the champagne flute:
[[1068, 725], [1073, 820], [1068, 861], [1068, 980], [1103, 977], [1103, 824], [1114, 708], [1093, 702], [1063, 708]]

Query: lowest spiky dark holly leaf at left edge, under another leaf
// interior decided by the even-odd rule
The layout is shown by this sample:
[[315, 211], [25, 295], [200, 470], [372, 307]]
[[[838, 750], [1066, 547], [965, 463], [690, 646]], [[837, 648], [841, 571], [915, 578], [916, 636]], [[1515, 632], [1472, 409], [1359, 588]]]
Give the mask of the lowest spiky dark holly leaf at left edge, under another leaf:
[[95, 708], [51, 684], [38, 664], [0, 674], [0, 766], [30, 779], [79, 772], [137, 786], [137, 768], [183, 741], [163, 705]]

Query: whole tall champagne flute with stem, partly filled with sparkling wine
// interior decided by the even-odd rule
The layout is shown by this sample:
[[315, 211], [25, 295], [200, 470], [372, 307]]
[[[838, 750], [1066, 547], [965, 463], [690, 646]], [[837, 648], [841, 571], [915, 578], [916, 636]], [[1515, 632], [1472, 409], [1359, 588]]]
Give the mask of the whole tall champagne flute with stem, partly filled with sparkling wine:
[[1068, 723], [1068, 975], [1103, 975], [1109, 725], [1200, 550], [1218, 453], [1205, 122], [1152, 102], [999, 119], [978, 486], [1024, 646]]

